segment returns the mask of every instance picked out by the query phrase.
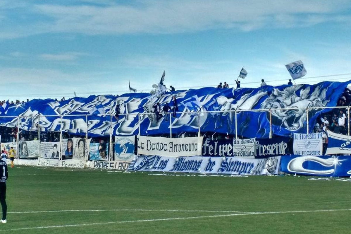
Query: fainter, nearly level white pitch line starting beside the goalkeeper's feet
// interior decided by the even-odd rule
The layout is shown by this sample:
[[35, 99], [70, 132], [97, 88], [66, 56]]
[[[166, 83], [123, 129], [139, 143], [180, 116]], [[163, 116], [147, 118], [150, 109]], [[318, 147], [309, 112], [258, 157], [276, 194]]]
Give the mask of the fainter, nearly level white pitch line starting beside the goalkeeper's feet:
[[165, 211], [165, 212], [208, 212], [208, 213], [254, 213], [230, 210], [152, 210], [152, 209], [110, 209], [110, 210], [42, 210], [42, 211], [13, 211], [7, 214], [26, 213], [55, 213], [55, 212], [105, 212], [105, 211]]

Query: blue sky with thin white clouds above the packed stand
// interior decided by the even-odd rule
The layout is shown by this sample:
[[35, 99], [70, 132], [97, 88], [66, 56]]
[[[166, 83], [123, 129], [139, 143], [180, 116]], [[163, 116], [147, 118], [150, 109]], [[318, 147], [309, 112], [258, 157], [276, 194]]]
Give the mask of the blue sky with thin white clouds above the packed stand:
[[351, 79], [350, 0], [0, 0], [0, 100]]

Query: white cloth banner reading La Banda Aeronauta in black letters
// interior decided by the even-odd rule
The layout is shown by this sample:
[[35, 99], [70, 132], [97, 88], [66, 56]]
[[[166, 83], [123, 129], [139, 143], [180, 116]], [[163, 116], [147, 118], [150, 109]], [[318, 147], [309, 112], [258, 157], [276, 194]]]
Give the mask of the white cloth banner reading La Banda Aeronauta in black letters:
[[137, 136], [138, 154], [168, 157], [201, 155], [203, 137], [147, 137]]

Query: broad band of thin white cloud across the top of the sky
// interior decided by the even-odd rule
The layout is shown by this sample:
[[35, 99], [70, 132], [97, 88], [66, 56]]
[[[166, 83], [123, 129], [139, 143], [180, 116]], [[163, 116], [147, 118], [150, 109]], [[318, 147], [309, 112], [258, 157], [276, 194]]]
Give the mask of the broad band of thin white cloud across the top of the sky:
[[[131, 1], [117, 5], [90, 0], [74, 5], [26, 6], [19, 17], [22, 25], [0, 31], [0, 38], [47, 32], [84, 34], [182, 33], [210, 29], [252, 31], [259, 28], [306, 27], [321, 22], [350, 25], [342, 13], [351, 7], [347, 0], [217, 0], [217, 1]], [[28, 3], [27, 3], [28, 4]], [[19, 8], [24, 8], [22, 5]], [[27, 22], [27, 17], [40, 19]], [[7, 30], [6, 30], [7, 28]]]

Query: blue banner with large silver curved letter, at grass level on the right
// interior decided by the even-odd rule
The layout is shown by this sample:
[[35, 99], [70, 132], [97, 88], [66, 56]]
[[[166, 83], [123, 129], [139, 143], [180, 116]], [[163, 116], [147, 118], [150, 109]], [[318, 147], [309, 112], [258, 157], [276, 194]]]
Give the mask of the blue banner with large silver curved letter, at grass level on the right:
[[299, 156], [282, 157], [280, 171], [310, 176], [351, 176], [350, 156]]

